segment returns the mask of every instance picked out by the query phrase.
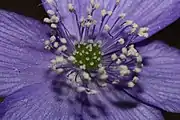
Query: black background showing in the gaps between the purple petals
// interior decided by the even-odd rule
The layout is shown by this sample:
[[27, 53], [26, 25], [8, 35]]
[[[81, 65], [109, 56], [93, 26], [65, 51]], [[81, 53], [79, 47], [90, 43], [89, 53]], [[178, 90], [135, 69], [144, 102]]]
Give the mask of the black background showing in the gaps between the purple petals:
[[[47, 16], [40, 0], [0, 0], [0, 9], [13, 11], [41, 21]], [[167, 44], [180, 49], [180, 20], [175, 21], [173, 24], [149, 39], [162, 40]], [[163, 111], [163, 115], [165, 120], [180, 120], [180, 114]]]

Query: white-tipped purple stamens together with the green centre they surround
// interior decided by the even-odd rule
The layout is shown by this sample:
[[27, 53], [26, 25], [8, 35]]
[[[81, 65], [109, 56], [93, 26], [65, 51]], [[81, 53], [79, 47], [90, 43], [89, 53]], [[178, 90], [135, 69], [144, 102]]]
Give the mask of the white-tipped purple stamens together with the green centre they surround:
[[[47, 2], [48, 4], [54, 4], [53, 0]], [[67, 47], [70, 44], [69, 38], [67, 36], [59, 36], [58, 32], [51, 35], [50, 40], [45, 41], [45, 49], [53, 51], [57, 55], [55, 59], [51, 60], [51, 69], [57, 74], [68, 74], [67, 77], [70, 81], [77, 83], [75, 88], [78, 92], [97, 93], [96, 90], [83, 86], [84, 81], [86, 83], [89, 83], [89, 81], [96, 82], [103, 87], [108, 85], [109, 82], [107, 81], [110, 81], [112, 84], [123, 83], [131, 88], [139, 79], [137, 75], [143, 67], [143, 59], [132, 42], [137, 37], [148, 37], [149, 29], [140, 27], [132, 20], [125, 20], [125, 13], [120, 13], [114, 23], [109, 25], [108, 21], [119, 4], [120, 0], [116, 0], [112, 10], [101, 9], [99, 14], [102, 18], [100, 24], [98, 24], [98, 20], [94, 19], [93, 16], [94, 12], [100, 9], [101, 5], [95, 0], [90, 0], [87, 18], [81, 16], [80, 19], [74, 5], [68, 3], [67, 9], [75, 16], [80, 40], [72, 43], [74, 45], [73, 50], [69, 50]], [[44, 22], [50, 24], [53, 30], [58, 31], [58, 23], [63, 23], [60, 16], [56, 15], [56, 12], [53, 10], [48, 10], [47, 13], [50, 18], [45, 18]], [[96, 27], [98, 25], [97, 30]], [[119, 31], [115, 30], [117, 26]], [[96, 37], [101, 32], [106, 32], [112, 40], [111, 45], [105, 48], [109, 52], [104, 52], [102, 49], [104, 44], [108, 44], [108, 40], [96, 40]], [[123, 32], [127, 33], [128, 38], [121, 36]], [[94, 39], [84, 40], [89, 35], [95, 36]], [[97, 41], [100, 41], [102, 44], [99, 44]], [[111, 51], [111, 47], [116, 47], [117, 50]]]

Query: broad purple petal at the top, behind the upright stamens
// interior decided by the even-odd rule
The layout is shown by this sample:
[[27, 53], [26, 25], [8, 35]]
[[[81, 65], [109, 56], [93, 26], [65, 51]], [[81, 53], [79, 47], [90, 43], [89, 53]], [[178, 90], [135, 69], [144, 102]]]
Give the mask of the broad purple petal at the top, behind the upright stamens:
[[[52, 2], [48, 3], [47, 1]], [[46, 10], [58, 10], [70, 34], [79, 37], [77, 20], [75, 15], [68, 11], [68, 3], [74, 5], [77, 18], [80, 20], [82, 16], [87, 17], [90, 0], [42, 0], [42, 2]], [[101, 10], [113, 11], [116, 0], [97, 0], [97, 3], [100, 3], [100, 8], [95, 11], [93, 18], [95, 18], [97, 24], [101, 24]], [[140, 27], [148, 27], [149, 36], [151, 36], [177, 20], [180, 17], [179, 11], [179, 0], [120, 0], [120, 4], [114, 10], [108, 24], [112, 26], [119, 14], [125, 13], [127, 15], [125, 20], [133, 20]], [[97, 28], [99, 27], [96, 26]], [[143, 39], [143, 37], [137, 37], [133, 42], [139, 42]]]

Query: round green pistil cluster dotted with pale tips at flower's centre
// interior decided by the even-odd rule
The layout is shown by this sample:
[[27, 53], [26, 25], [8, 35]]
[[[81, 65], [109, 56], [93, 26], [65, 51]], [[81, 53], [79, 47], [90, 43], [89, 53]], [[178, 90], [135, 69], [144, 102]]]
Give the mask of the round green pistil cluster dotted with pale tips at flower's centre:
[[74, 63], [84, 69], [96, 69], [101, 61], [100, 46], [96, 43], [80, 43], [75, 45]]

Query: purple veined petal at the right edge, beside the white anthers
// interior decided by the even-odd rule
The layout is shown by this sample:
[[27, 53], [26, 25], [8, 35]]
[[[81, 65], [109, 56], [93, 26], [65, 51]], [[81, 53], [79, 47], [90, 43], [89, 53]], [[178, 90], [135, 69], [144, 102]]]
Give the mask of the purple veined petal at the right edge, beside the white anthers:
[[180, 51], [160, 42], [139, 51], [146, 64], [138, 81], [143, 91], [137, 97], [166, 111], [180, 112]]

